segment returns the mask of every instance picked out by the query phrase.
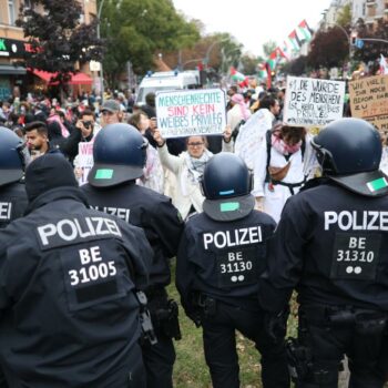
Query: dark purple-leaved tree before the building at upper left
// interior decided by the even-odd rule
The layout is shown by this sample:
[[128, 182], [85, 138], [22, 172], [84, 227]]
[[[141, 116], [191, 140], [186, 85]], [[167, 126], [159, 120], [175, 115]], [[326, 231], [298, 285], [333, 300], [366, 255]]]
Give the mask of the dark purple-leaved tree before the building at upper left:
[[80, 64], [100, 61], [103, 42], [96, 38], [96, 21], [81, 23], [81, 14], [76, 0], [34, 0], [31, 8], [21, 4], [17, 25], [30, 47], [25, 67], [55, 73], [51, 81], [63, 86]]

